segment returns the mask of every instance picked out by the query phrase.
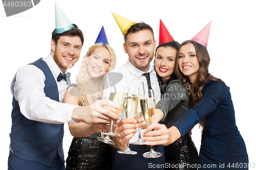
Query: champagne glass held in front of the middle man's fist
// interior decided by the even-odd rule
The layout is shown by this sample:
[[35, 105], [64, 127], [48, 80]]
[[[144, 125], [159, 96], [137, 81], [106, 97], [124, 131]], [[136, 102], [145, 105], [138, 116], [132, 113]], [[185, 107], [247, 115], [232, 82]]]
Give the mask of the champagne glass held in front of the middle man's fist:
[[[137, 89], [136, 86], [132, 85], [130, 86], [130, 90], [127, 96], [124, 96], [123, 99], [123, 111], [126, 118], [134, 118], [137, 112], [138, 108], [138, 99], [139, 96], [137, 95]], [[125, 150], [117, 151], [120, 154], [129, 154], [129, 155], [135, 155], [137, 152], [132, 151], [129, 148], [129, 140], [127, 141], [127, 146]]]

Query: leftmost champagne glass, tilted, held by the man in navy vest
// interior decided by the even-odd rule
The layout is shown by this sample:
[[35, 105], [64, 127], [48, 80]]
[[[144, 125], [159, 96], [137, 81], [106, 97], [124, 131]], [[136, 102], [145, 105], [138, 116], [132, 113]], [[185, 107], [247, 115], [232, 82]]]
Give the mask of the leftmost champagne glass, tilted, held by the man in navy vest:
[[[126, 96], [128, 94], [128, 91], [129, 91], [129, 88], [127, 88], [125, 86], [119, 85], [119, 86], [115, 87], [115, 85], [113, 84], [111, 87], [109, 100], [120, 105], [121, 109], [118, 110], [118, 109], [112, 108], [110, 106], [108, 106], [107, 109], [109, 109], [112, 112], [114, 112], [115, 114], [119, 115], [123, 109], [123, 98], [124, 98], [124, 96]], [[110, 136], [120, 137], [120, 135], [114, 134], [113, 125], [114, 125], [114, 120], [111, 119], [110, 131], [108, 133], [101, 133], [101, 135], [103, 135], [104, 137], [97, 137], [97, 139], [104, 143], [116, 144], [113, 140], [110, 139]]]

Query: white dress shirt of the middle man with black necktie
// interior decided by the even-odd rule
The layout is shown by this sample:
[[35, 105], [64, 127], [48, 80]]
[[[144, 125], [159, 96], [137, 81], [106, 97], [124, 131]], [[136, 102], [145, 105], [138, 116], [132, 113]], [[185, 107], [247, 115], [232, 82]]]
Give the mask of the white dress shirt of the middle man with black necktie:
[[[144, 74], [144, 71], [141, 71], [140, 69], [138, 69], [137, 67], [135, 67], [130, 60], [128, 60], [125, 64], [123, 64], [121, 67], [115, 68], [113, 70], [111, 70], [110, 72], [118, 72], [120, 74], [123, 75], [122, 80], [117, 84], [118, 85], [125, 85], [128, 86], [131, 84], [131, 82], [135, 82], [135, 81], [143, 81], [145, 84], [145, 87], [147, 88], [147, 80], [146, 77], [143, 76], [142, 74]], [[151, 86], [152, 89], [154, 90], [155, 93], [155, 101], [156, 104], [160, 101], [161, 98], [161, 93], [160, 93], [160, 88], [159, 88], [159, 84], [158, 84], [158, 80], [157, 80], [157, 75], [156, 75], [156, 71], [154, 68], [154, 65], [150, 65], [148, 67], [147, 72], [150, 72], [150, 79], [151, 79]], [[106, 80], [108, 81], [108, 80]], [[109, 100], [109, 94], [110, 94], [110, 90], [111, 88], [107, 88], [103, 90], [103, 98], [102, 100]], [[122, 113], [119, 115], [119, 119], [124, 118], [124, 112], [122, 111]], [[141, 130], [141, 135], [144, 133], [144, 129]], [[133, 143], [135, 141], [137, 141], [139, 138], [139, 132], [137, 132], [130, 140], [130, 143]]]

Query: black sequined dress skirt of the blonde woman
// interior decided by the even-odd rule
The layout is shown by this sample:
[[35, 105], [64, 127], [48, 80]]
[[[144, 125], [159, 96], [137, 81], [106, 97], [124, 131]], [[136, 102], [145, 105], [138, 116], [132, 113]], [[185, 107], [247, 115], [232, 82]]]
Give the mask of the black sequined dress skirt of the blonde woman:
[[[76, 86], [71, 84], [70, 86]], [[101, 100], [97, 98], [97, 100]], [[111, 169], [111, 147], [97, 139], [100, 133], [87, 137], [74, 137], [66, 160], [66, 169]]]

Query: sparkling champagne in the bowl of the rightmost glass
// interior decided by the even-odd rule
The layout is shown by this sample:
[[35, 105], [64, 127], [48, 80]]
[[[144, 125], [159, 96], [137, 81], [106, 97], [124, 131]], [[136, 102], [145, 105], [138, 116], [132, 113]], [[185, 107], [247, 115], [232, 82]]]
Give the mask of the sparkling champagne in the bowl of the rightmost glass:
[[140, 99], [141, 112], [147, 125], [151, 125], [154, 122], [155, 106], [155, 98]]

